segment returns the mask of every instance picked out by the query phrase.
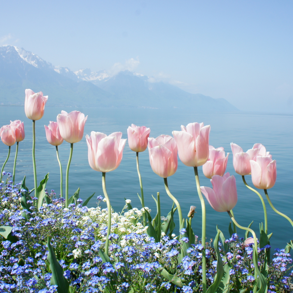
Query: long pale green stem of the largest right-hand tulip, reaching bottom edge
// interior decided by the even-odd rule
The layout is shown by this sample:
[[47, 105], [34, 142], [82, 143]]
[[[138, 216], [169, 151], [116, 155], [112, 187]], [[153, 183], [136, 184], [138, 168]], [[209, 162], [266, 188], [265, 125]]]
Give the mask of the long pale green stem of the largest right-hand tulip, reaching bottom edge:
[[200, 198], [200, 203], [202, 206], [202, 292], [205, 293], [207, 291], [207, 277], [206, 277], [206, 270], [207, 270], [207, 263], [206, 263], [206, 256], [205, 256], [205, 226], [206, 226], [206, 219], [205, 219], [205, 200], [202, 197], [202, 193], [200, 190], [200, 180], [198, 177], [197, 167], [194, 167], [194, 174], [195, 174], [195, 181], [196, 181], [196, 188], [197, 193]]

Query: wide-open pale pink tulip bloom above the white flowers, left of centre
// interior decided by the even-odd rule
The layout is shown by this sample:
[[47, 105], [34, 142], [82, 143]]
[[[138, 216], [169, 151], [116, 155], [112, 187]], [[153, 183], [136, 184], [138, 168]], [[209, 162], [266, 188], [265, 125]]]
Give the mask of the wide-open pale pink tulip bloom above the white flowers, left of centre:
[[110, 172], [115, 170], [122, 160], [122, 152], [126, 139], [122, 139], [122, 132], [114, 132], [107, 136], [101, 132], [91, 132], [86, 135], [88, 144], [88, 163], [93, 170]]

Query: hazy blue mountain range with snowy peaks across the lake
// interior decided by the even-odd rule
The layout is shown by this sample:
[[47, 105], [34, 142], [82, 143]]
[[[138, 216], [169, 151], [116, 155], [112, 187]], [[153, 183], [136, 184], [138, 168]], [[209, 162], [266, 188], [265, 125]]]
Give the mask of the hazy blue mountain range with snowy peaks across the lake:
[[183, 108], [235, 111], [225, 99], [187, 93], [135, 72], [55, 67], [38, 55], [14, 46], [0, 46], [0, 105], [23, 105], [24, 90], [48, 95], [47, 106]]

